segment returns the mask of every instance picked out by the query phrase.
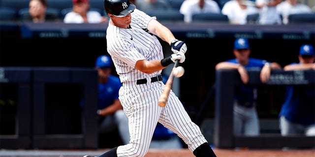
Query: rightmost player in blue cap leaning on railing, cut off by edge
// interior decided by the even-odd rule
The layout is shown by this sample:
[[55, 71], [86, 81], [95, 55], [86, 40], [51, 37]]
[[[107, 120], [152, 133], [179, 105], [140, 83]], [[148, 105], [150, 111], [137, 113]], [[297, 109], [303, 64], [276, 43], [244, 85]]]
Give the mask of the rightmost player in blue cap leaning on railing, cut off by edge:
[[[284, 66], [285, 71], [315, 70], [315, 54], [312, 45], [302, 45], [299, 62]], [[315, 136], [315, 85], [287, 85], [280, 114], [280, 130], [283, 136], [305, 134]]]

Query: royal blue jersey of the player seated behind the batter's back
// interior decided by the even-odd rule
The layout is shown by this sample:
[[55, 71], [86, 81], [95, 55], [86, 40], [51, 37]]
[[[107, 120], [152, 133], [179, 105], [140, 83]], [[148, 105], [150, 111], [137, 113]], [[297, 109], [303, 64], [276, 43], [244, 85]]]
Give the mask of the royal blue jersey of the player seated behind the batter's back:
[[119, 89], [122, 86], [120, 79], [111, 75], [106, 83], [98, 83], [98, 109], [103, 109], [119, 97]]

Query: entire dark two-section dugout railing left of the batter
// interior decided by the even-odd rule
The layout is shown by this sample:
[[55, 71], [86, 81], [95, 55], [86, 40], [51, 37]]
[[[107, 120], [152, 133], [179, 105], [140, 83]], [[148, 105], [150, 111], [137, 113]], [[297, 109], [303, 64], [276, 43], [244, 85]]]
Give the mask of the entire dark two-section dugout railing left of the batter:
[[97, 148], [97, 89], [94, 68], [0, 67], [0, 148]]

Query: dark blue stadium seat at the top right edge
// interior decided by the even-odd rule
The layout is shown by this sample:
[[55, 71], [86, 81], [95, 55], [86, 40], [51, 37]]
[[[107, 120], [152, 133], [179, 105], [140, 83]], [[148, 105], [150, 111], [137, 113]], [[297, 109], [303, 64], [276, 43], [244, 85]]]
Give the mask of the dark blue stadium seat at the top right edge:
[[315, 23], [315, 13], [290, 14], [288, 16], [288, 24], [306, 24]]

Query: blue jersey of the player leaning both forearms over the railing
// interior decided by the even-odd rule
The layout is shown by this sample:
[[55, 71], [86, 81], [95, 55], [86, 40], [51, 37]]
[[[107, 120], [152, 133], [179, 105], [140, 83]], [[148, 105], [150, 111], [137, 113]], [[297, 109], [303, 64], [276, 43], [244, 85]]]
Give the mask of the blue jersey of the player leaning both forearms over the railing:
[[[227, 62], [231, 63], [239, 63], [236, 58], [227, 60]], [[249, 62], [247, 65], [243, 65], [246, 70], [261, 70], [267, 61], [256, 58], [249, 58]], [[254, 93], [254, 88], [252, 86], [241, 84], [235, 87], [234, 90], [234, 99], [238, 101], [247, 101], [253, 102], [255, 101], [256, 94]]]

